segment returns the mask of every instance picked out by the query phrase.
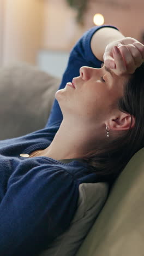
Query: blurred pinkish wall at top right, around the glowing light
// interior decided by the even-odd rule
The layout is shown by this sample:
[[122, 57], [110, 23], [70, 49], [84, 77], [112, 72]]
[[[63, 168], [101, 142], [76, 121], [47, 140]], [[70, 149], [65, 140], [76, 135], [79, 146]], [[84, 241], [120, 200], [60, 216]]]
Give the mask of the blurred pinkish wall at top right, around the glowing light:
[[125, 36], [139, 40], [144, 30], [143, 9], [143, 0], [89, 0], [85, 26], [91, 26], [89, 18], [101, 13], [105, 17], [105, 24], [115, 25]]

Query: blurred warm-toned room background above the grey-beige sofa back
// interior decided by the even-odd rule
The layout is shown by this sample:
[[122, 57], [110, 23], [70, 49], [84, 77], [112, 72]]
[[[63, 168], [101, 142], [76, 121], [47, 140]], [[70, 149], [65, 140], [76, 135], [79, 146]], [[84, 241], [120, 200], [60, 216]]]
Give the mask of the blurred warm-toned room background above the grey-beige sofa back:
[[144, 43], [143, 0], [0, 0], [0, 65], [31, 63], [61, 77], [69, 51], [94, 25]]

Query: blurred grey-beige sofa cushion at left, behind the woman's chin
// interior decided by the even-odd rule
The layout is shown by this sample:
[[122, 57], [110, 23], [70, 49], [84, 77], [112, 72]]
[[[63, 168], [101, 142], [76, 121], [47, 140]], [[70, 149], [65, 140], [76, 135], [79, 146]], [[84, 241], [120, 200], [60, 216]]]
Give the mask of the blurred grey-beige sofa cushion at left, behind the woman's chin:
[[0, 139], [42, 129], [60, 81], [28, 63], [0, 68]]

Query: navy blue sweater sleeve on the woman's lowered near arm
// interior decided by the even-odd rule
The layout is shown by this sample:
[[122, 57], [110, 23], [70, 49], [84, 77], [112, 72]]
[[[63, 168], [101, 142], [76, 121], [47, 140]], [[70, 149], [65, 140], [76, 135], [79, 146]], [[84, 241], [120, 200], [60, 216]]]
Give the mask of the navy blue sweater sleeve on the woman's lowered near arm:
[[77, 182], [61, 167], [21, 166], [0, 205], [0, 255], [35, 256], [46, 249], [68, 228], [78, 197]]

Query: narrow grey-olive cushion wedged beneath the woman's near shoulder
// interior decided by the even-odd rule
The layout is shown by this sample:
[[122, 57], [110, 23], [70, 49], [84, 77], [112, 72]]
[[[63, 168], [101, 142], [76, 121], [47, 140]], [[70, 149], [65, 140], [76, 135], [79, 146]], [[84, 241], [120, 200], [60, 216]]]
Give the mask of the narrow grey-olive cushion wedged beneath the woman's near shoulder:
[[78, 208], [69, 229], [40, 256], [74, 256], [103, 207], [108, 189], [106, 183], [80, 184]]

